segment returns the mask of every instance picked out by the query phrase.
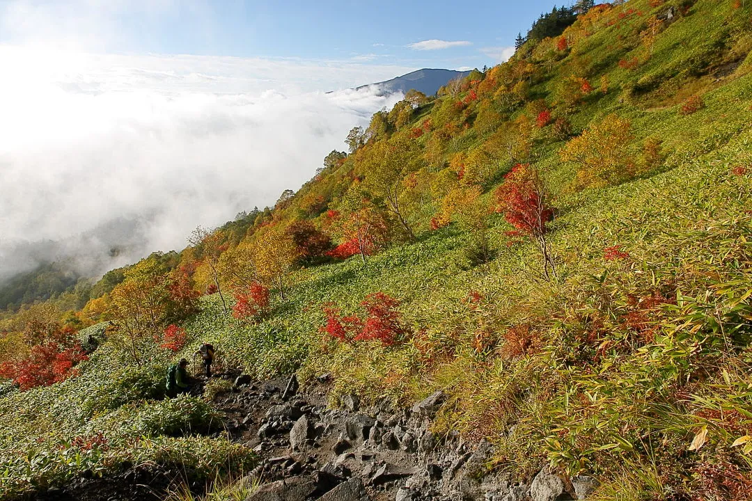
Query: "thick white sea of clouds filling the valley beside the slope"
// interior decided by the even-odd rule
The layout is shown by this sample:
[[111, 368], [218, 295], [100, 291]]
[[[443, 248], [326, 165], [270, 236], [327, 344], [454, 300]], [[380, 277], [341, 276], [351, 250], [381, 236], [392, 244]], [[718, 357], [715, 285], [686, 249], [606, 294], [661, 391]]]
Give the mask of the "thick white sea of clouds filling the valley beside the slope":
[[274, 204], [400, 97], [324, 91], [415, 69], [7, 46], [0, 60], [0, 279], [34, 264], [34, 242], [102, 273]]

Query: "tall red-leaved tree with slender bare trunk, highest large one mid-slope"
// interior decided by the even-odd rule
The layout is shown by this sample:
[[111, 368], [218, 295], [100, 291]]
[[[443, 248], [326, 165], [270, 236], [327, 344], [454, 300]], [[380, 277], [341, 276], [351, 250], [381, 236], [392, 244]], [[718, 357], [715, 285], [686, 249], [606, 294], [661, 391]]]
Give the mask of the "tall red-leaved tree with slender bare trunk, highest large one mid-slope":
[[556, 263], [546, 241], [546, 223], [553, 219], [553, 207], [548, 204], [548, 192], [538, 171], [530, 164], [517, 164], [496, 189], [496, 212], [514, 226], [510, 237], [530, 237], [543, 255], [543, 274], [546, 279], [556, 276]]

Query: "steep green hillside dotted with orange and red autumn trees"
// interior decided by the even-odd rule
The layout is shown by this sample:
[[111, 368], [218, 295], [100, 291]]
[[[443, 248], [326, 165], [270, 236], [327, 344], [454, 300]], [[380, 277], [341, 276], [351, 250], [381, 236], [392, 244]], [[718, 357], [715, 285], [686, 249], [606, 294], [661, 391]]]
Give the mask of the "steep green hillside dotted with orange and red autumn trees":
[[568, 13], [375, 113], [275, 207], [109, 273], [80, 310], [6, 318], [0, 490], [249, 466], [193, 433], [217, 426], [207, 400], [159, 400], [209, 341], [259, 379], [330, 373], [334, 406], [442, 390], [433, 431], [489, 440], [514, 478], [749, 499], [752, 5]]

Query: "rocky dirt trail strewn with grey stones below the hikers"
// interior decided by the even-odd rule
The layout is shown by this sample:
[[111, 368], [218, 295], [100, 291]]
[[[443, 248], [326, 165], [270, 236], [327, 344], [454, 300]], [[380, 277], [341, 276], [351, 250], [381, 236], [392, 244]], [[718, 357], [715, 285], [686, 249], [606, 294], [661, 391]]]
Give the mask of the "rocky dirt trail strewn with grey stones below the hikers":
[[[441, 392], [409, 409], [387, 400], [363, 408], [354, 395], [330, 409], [330, 387], [327, 375], [301, 392], [294, 378], [238, 376], [232, 392], [215, 397], [226, 432], [259, 456], [247, 481], [261, 487], [246, 501], [560, 501], [587, 499], [597, 485], [547, 469], [529, 483], [489, 470], [490, 443], [430, 431]], [[180, 472], [126, 467], [117, 477], [80, 478], [34, 499], [155, 499], [179, 479]], [[205, 485], [190, 487], [200, 493]]]

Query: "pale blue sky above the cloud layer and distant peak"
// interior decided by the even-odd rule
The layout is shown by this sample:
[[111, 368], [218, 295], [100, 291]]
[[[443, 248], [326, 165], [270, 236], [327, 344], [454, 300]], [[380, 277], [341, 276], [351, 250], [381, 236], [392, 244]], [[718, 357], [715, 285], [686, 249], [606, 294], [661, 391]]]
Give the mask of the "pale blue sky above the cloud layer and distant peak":
[[[2, 0], [0, 12], [3, 5], [7, 23], [0, 29], [0, 44], [44, 41], [88, 52], [301, 58], [414, 68], [497, 64], [508, 56], [517, 32], [526, 32], [541, 12], [553, 7], [550, 0]], [[419, 50], [426, 49], [420, 45], [425, 41], [452, 44], [436, 42], [427, 45], [430, 50]]]

